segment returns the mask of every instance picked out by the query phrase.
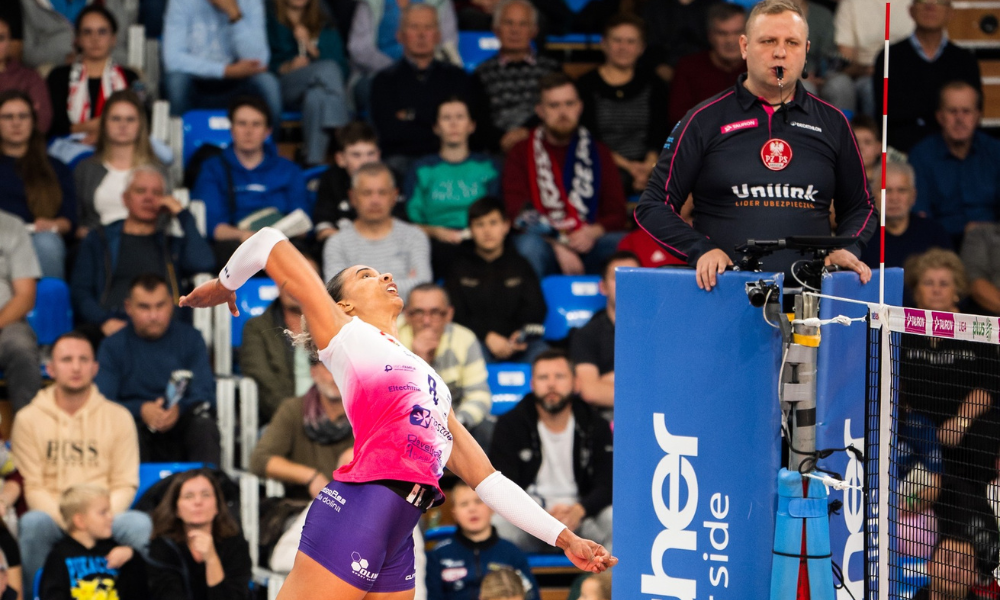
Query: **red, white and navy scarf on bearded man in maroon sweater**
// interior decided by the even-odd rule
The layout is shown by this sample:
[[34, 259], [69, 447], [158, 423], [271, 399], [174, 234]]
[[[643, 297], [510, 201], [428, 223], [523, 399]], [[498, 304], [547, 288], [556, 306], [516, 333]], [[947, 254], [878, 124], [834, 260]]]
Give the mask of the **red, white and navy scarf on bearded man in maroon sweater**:
[[591, 213], [596, 209], [597, 148], [587, 128], [578, 128], [566, 154], [566, 165], [558, 173], [542, 143], [544, 136], [541, 127], [531, 132], [528, 180], [532, 204], [553, 229], [576, 231], [592, 221]]

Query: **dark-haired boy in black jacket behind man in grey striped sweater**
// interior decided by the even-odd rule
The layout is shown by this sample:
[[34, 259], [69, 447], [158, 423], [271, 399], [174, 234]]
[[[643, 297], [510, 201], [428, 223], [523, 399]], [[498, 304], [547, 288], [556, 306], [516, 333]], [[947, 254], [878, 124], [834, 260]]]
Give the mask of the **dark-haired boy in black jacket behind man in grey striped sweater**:
[[[340, 231], [342, 221], [353, 221], [358, 216], [348, 197], [351, 178], [363, 165], [382, 160], [378, 137], [368, 123], [348, 123], [337, 131], [336, 140], [336, 164], [330, 165], [320, 178], [316, 206], [313, 209], [316, 241], [321, 245], [326, 238]], [[406, 205], [402, 200], [403, 197], [400, 196], [400, 202], [393, 207], [392, 216], [405, 220]]]

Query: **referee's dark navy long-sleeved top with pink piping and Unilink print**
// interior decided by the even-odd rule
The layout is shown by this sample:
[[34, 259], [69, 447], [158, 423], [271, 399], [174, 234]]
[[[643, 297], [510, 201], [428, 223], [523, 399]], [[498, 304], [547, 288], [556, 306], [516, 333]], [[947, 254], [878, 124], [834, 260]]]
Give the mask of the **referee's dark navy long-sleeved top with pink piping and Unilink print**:
[[[796, 86], [785, 108], [771, 109], [736, 85], [691, 109], [670, 132], [635, 211], [636, 222], [671, 254], [695, 266], [720, 248], [735, 262], [734, 248], [748, 238], [836, 235], [857, 238], [861, 254], [878, 225], [864, 162], [842, 112]], [[785, 142], [785, 168], [765, 166], [762, 150]], [[773, 161], [772, 161], [773, 162]], [[680, 217], [694, 195], [694, 227]], [[796, 252], [764, 259], [764, 270], [788, 272]]]

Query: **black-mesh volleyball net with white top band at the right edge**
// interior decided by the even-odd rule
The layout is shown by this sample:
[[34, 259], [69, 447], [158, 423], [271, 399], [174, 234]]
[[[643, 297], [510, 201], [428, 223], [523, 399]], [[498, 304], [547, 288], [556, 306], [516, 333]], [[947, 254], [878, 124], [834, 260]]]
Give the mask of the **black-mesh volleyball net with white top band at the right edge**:
[[870, 311], [865, 596], [997, 598], [1000, 322]]

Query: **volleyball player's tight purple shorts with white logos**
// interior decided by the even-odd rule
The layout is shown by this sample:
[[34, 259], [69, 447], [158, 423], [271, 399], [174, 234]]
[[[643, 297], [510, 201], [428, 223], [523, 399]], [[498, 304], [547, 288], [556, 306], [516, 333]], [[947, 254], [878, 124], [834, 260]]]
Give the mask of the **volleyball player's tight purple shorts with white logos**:
[[421, 514], [377, 483], [331, 481], [309, 505], [299, 550], [360, 590], [412, 590]]

